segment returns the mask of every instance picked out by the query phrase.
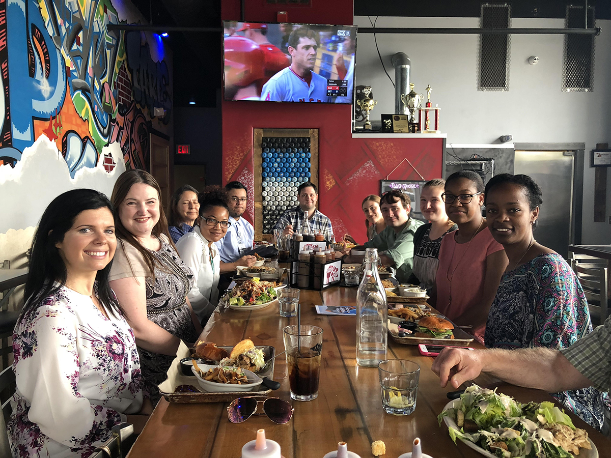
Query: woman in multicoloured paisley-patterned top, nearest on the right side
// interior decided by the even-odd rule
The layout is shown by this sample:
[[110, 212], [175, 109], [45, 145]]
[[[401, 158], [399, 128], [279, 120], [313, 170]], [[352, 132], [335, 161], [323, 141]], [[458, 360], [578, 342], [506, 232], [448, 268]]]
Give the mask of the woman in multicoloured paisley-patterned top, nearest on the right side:
[[[541, 188], [527, 175], [503, 173], [486, 184], [488, 228], [509, 258], [486, 324], [487, 347], [561, 349], [592, 330], [579, 280], [562, 256], [533, 236], [542, 202]], [[601, 429], [599, 391], [584, 388], [552, 396]]]

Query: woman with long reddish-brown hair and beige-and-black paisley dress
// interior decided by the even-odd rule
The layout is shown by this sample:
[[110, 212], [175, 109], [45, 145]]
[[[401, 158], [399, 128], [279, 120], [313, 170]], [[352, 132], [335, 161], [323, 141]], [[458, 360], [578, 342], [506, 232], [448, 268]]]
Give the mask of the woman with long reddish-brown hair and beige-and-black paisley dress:
[[112, 190], [117, 208], [117, 254], [111, 288], [136, 336], [144, 393], [159, 401], [181, 340], [192, 346], [202, 332], [187, 294], [193, 274], [178, 257], [161, 211], [159, 184], [144, 170], [123, 172]]

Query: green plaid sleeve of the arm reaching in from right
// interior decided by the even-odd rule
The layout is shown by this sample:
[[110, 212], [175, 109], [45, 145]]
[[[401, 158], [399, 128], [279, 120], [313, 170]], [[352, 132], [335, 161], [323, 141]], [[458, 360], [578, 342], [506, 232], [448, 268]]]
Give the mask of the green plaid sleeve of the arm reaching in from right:
[[611, 317], [560, 352], [595, 388], [611, 390]]

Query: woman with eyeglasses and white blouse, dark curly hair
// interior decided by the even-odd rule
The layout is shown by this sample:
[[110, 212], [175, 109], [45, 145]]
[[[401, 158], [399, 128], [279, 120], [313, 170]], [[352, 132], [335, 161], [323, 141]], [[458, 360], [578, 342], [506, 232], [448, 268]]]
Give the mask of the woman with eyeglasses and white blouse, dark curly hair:
[[227, 191], [210, 187], [200, 194], [199, 225], [176, 244], [180, 258], [191, 268], [194, 285], [189, 293], [193, 310], [202, 325], [218, 304], [221, 255], [214, 242], [231, 226]]

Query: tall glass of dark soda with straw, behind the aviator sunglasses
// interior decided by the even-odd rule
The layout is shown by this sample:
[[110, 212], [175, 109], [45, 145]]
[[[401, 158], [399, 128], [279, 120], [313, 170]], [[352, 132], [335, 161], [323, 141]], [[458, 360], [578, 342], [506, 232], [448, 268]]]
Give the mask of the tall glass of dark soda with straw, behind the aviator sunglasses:
[[323, 330], [312, 325], [287, 326], [284, 328], [284, 347], [287, 351], [291, 398], [296, 401], [316, 399], [320, 380]]

